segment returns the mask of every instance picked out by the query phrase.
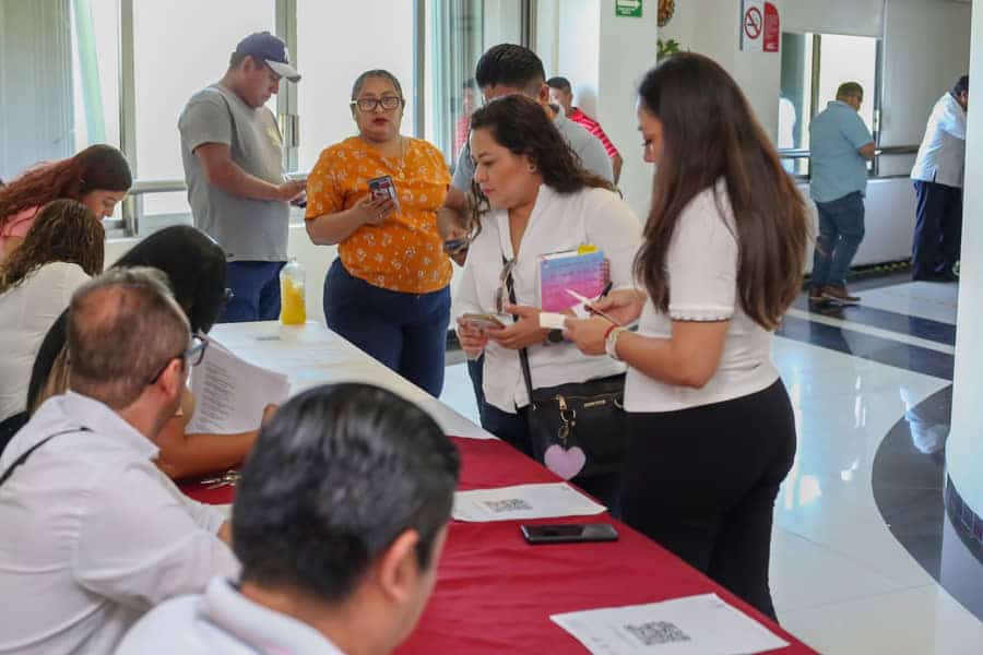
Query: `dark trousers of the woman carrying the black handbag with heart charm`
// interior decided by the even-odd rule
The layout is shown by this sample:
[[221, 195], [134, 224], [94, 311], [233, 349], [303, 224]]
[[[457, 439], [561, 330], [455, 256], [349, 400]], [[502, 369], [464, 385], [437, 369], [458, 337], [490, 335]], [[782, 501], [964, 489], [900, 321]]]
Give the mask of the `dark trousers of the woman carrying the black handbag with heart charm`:
[[[482, 427], [522, 454], [542, 460], [542, 454], [535, 452], [536, 449], [529, 432], [529, 407], [518, 409], [516, 414], [509, 414], [485, 400], [485, 392], [482, 389], [484, 364], [484, 356], [479, 359], [467, 360], [467, 374], [471, 376], [471, 384], [474, 386], [474, 395], [477, 398]], [[570, 481], [604, 503], [613, 516], [620, 516], [621, 475], [619, 473], [575, 477]]]

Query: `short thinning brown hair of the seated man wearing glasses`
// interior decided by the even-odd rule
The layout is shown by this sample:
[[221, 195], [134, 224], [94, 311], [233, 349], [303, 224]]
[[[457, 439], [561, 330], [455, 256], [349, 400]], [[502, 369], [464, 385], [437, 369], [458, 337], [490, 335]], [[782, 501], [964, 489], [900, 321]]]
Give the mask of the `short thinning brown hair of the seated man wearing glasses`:
[[122, 409], [140, 397], [162, 366], [185, 353], [190, 337], [188, 319], [163, 273], [110, 269], [72, 296], [70, 386]]

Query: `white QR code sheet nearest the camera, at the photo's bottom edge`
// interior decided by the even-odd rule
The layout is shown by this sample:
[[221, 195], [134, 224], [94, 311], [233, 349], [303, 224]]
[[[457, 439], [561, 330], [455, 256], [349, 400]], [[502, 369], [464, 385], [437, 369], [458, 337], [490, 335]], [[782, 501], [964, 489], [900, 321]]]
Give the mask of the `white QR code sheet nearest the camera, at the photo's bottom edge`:
[[549, 618], [595, 655], [745, 655], [789, 645], [716, 594]]

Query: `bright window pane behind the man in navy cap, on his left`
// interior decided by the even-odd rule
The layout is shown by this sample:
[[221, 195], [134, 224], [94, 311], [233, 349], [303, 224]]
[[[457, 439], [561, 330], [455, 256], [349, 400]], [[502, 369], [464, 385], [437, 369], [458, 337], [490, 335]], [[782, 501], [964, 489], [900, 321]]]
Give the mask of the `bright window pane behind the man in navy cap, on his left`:
[[[188, 98], [217, 82], [236, 44], [275, 32], [274, 0], [170, 0], [133, 3], [137, 169], [142, 180], [183, 180], [178, 117]], [[270, 99], [276, 111], [276, 99]], [[143, 196], [140, 229], [190, 222], [187, 195]]]

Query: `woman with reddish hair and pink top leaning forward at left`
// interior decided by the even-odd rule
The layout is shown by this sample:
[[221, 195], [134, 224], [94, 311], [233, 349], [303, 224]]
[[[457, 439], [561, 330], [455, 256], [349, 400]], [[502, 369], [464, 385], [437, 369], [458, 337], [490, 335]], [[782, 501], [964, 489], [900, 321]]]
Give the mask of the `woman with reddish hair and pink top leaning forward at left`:
[[112, 215], [133, 186], [130, 165], [111, 145], [91, 145], [73, 157], [39, 164], [0, 184], [0, 261], [24, 240], [38, 211], [52, 200], [76, 200], [96, 218]]

